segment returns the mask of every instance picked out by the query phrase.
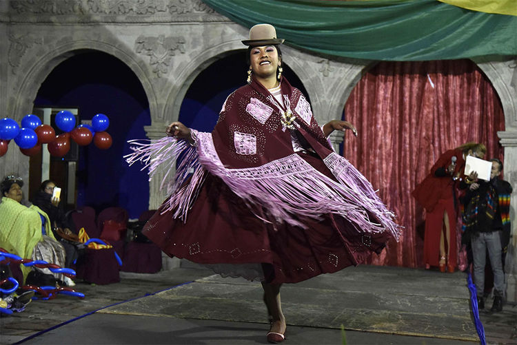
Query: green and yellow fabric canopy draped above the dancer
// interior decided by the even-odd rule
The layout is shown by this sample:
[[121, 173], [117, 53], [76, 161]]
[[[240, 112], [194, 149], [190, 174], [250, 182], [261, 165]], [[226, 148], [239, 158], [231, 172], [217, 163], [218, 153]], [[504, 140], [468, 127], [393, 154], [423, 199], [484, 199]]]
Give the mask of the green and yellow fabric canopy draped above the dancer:
[[203, 1], [247, 28], [271, 23], [285, 43], [316, 54], [381, 61], [517, 56], [517, 0]]

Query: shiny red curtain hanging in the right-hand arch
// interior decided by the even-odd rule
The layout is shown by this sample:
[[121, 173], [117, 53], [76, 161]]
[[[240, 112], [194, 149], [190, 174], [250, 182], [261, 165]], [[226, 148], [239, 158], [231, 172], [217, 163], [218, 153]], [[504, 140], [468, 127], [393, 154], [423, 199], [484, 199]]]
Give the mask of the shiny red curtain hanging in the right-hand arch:
[[487, 77], [470, 60], [381, 62], [352, 90], [343, 113], [358, 130], [345, 156], [396, 214], [403, 236], [369, 263], [423, 266], [424, 211], [411, 196], [440, 153], [469, 141], [503, 159], [505, 119]]

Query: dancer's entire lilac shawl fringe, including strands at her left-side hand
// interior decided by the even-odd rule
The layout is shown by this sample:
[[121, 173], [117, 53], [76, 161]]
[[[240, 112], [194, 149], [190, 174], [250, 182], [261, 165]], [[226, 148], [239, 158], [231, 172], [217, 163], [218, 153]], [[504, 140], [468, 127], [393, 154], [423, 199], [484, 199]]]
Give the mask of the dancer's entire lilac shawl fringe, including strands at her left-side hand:
[[[297, 154], [261, 167], [227, 169], [216, 153], [210, 133], [198, 134], [197, 149], [172, 137], [146, 141], [130, 140], [134, 152], [124, 158], [130, 165], [141, 161], [142, 169], [149, 168], [150, 179], [163, 172], [161, 187], [166, 185], [171, 196], [163, 212], [174, 210], [174, 218], [183, 222], [210, 171], [265, 221], [306, 227], [300, 218], [318, 219], [323, 214], [335, 213], [347, 218], [359, 232], [389, 231], [397, 240], [400, 236], [401, 228], [392, 220], [394, 214], [386, 209], [372, 185], [335, 153], [325, 158], [325, 164], [341, 183], [327, 178]], [[178, 158], [179, 165], [174, 169]], [[172, 178], [174, 171], [176, 176]], [[370, 219], [370, 215], [376, 219]]]

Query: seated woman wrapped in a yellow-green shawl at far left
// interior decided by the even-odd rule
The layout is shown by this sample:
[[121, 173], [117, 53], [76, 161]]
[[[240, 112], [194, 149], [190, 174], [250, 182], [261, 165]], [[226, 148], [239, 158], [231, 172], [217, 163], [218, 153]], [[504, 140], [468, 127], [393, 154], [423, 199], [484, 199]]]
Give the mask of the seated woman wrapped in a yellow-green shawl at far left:
[[[64, 267], [65, 249], [57, 242], [50, 231], [50, 220], [39, 207], [26, 207], [21, 203], [23, 180], [7, 176], [0, 183], [2, 198], [0, 202], [0, 247], [21, 258], [45, 260]], [[41, 273], [52, 274], [65, 284], [72, 280], [50, 269], [40, 269]], [[23, 279], [27, 278], [30, 268], [21, 265]]]

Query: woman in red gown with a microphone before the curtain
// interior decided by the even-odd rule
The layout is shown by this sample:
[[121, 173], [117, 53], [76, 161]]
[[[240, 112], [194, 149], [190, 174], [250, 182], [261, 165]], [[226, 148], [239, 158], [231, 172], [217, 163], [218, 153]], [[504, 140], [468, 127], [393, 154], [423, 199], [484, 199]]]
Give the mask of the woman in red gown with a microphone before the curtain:
[[430, 174], [420, 182], [412, 195], [425, 208], [425, 268], [438, 266], [440, 271], [456, 269], [457, 189], [465, 176], [465, 158], [485, 157], [485, 145], [466, 143], [445, 151], [434, 163]]

